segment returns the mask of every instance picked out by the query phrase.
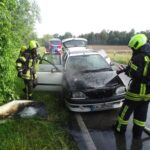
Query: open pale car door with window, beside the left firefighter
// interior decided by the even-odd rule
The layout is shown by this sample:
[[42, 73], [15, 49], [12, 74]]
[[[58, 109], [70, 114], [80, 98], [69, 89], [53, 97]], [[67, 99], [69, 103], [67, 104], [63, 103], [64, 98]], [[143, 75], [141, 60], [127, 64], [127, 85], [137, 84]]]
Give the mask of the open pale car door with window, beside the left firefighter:
[[61, 91], [63, 67], [60, 55], [45, 54], [39, 64], [37, 72], [36, 91]]

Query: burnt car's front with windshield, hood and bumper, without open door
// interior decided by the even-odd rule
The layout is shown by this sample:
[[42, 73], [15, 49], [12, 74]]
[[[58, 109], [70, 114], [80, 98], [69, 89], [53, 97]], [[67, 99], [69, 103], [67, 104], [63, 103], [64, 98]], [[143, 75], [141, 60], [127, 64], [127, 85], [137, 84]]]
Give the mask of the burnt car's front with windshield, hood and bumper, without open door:
[[74, 112], [119, 108], [125, 86], [107, 61], [96, 52], [70, 54], [65, 63], [63, 95]]

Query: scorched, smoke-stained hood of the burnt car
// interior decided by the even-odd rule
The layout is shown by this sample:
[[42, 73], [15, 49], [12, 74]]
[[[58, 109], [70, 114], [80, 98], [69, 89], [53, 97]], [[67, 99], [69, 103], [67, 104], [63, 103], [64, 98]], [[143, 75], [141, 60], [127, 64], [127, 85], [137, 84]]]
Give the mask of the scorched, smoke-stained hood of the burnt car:
[[72, 90], [113, 88], [123, 84], [115, 71], [66, 73], [66, 81]]

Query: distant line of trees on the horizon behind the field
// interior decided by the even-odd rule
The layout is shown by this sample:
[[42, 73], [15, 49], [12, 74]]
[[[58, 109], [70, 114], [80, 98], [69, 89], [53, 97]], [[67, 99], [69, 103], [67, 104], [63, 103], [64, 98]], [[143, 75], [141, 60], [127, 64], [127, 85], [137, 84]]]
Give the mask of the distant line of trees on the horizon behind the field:
[[[150, 39], [150, 30], [141, 31], [139, 33], [144, 33]], [[130, 38], [136, 34], [134, 29], [131, 29], [131, 31], [108, 31], [108, 30], [102, 30], [99, 33], [87, 33], [87, 34], [81, 34], [78, 37], [85, 38], [88, 40], [89, 45], [127, 45]], [[49, 40], [51, 38], [59, 38], [61, 40], [66, 38], [72, 38], [75, 37], [71, 32], [66, 32], [64, 35], [59, 34], [46, 34], [42, 38], [39, 39], [39, 42], [41, 45], [45, 46], [49, 43]]]

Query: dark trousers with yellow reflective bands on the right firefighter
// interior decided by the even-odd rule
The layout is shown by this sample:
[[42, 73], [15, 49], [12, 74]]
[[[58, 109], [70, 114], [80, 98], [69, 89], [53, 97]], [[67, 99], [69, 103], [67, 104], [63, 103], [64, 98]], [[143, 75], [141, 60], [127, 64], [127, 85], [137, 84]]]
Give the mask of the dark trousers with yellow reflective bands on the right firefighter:
[[125, 99], [115, 124], [115, 130], [119, 133], [125, 133], [129, 118], [133, 113], [133, 137], [140, 138], [147, 118], [148, 104], [148, 101]]

